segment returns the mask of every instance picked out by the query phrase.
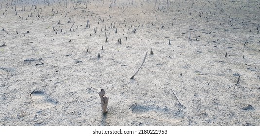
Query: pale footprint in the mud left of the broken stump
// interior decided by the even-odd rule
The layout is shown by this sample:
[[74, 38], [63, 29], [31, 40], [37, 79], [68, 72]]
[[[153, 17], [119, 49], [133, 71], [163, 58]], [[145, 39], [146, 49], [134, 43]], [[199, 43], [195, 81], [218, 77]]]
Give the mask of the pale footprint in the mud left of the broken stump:
[[34, 90], [30, 97], [32, 98], [32, 104], [39, 109], [48, 109], [55, 107], [58, 104], [58, 101], [53, 100], [52, 98], [48, 97], [43, 91], [41, 90]]

